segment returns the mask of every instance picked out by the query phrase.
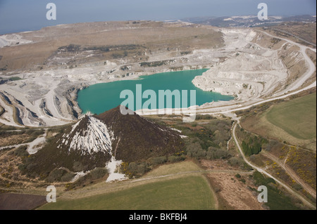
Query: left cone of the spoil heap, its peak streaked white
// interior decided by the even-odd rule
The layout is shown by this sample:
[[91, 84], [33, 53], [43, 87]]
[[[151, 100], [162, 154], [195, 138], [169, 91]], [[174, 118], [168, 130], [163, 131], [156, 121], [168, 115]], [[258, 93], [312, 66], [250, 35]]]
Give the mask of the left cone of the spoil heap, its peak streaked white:
[[[31, 161], [25, 161], [24, 164], [30, 167], [27, 173], [45, 177], [54, 169], [61, 167], [74, 172], [104, 167], [111, 159], [109, 153], [111, 148], [109, 145], [99, 145], [106, 140], [97, 140], [100, 137], [95, 133], [100, 132], [101, 129], [94, 128], [97, 129], [92, 123], [92, 118], [88, 116], [80, 119], [73, 126], [68, 126], [63, 133], [58, 133], [49, 139], [42, 150], [31, 155]], [[96, 141], [91, 142], [92, 140]], [[100, 150], [100, 147], [104, 150]]]

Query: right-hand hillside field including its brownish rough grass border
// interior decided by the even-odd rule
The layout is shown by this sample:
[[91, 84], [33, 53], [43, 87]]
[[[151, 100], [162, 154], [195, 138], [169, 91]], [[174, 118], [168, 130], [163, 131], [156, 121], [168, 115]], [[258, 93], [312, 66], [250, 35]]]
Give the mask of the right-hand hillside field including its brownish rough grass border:
[[316, 93], [276, 105], [259, 105], [244, 115], [242, 127], [247, 131], [316, 150]]

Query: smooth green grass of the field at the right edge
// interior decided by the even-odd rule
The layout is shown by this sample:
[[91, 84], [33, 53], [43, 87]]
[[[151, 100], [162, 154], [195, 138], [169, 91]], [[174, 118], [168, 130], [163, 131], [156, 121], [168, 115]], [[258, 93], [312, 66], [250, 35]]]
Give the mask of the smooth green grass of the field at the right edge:
[[266, 119], [295, 138], [316, 138], [316, 93], [275, 105]]

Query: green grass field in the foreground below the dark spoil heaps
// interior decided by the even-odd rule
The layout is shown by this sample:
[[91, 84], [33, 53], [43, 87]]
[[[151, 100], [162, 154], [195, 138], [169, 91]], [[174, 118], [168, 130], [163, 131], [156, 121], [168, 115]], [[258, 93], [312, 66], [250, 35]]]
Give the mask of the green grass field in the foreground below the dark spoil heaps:
[[39, 209], [161, 210], [215, 209], [213, 194], [202, 176], [147, 183], [127, 190], [80, 199], [60, 199]]

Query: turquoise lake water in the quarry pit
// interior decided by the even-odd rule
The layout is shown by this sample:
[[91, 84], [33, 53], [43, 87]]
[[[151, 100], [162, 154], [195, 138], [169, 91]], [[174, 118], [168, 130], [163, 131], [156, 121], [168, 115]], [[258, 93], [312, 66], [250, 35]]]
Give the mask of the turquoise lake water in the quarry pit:
[[[187, 90], [187, 107], [190, 106], [190, 90], [196, 90], [195, 105], [203, 105], [204, 103], [209, 103], [212, 101], [228, 101], [233, 99], [233, 97], [230, 95], [221, 95], [220, 93], [202, 91], [200, 88], [194, 86], [194, 84], [192, 84], [194, 77], [199, 76], [204, 72], [206, 72], [206, 69], [185, 70], [180, 72], [163, 72], [140, 76], [139, 79], [134, 80], [120, 80], [102, 84], [94, 84], [78, 92], [77, 102], [80, 106], [80, 109], [82, 110], [82, 113], [85, 114], [86, 112], [92, 112], [94, 114], [101, 114], [102, 112], [110, 110], [123, 103], [125, 98], [120, 98], [120, 93], [123, 90], [132, 91], [134, 93], [134, 103], [136, 103], [137, 100], [135, 98], [137, 84], [142, 84], [142, 93], [148, 89], [155, 91], [157, 105], [159, 105], [159, 90], [179, 90], [181, 93], [181, 99], [182, 90]], [[126, 96], [126, 98], [128, 98], [128, 96]], [[142, 105], [147, 100], [147, 98], [142, 99]], [[172, 105], [173, 108], [175, 108], [174, 100]], [[142, 108], [137, 108], [135, 105], [134, 109], [138, 110]]]

